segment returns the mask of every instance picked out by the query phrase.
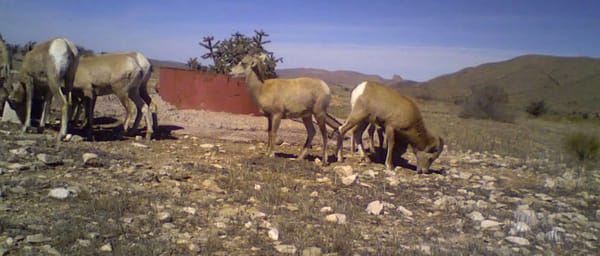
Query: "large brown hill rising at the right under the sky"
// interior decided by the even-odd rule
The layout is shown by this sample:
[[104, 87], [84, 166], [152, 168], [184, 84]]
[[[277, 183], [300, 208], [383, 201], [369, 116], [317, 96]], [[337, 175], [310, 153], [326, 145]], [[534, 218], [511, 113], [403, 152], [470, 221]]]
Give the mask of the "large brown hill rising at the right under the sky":
[[403, 90], [413, 96], [457, 102], [470, 95], [471, 88], [487, 85], [504, 88], [509, 104], [518, 109], [544, 100], [556, 111], [600, 112], [598, 58], [524, 55], [465, 68]]

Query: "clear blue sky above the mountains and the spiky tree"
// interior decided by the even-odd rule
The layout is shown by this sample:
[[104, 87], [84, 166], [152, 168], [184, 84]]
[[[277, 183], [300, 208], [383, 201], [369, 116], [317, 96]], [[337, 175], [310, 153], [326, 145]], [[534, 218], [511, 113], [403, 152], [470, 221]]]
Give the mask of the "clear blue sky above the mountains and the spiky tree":
[[[185, 62], [204, 36], [270, 34], [279, 68], [425, 81], [522, 54], [600, 57], [600, 1], [0, 0], [10, 43], [64, 36], [96, 51]], [[202, 60], [207, 63], [207, 60]]]

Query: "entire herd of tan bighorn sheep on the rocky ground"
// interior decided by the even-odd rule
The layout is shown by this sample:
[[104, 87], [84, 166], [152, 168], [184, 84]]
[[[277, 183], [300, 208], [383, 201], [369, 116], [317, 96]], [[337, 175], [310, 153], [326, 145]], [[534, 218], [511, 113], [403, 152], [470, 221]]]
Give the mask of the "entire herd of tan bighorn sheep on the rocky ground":
[[[6, 56], [6, 57], [5, 57]], [[123, 130], [134, 133], [139, 122], [146, 122], [146, 139], [156, 130], [156, 107], [148, 93], [152, 67], [146, 57], [137, 52], [110, 53], [80, 57], [75, 45], [65, 38], [53, 38], [36, 44], [21, 64], [18, 74], [10, 73], [6, 46], [0, 41], [0, 105], [8, 100], [11, 107], [24, 109], [23, 132], [31, 126], [33, 100], [42, 102], [39, 126], [43, 128], [50, 113], [53, 98], [61, 103], [60, 141], [67, 136], [68, 125], [85, 113], [84, 129], [93, 140], [93, 113], [98, 96], [115, 94], [126, 117]], [[266, 154], [273, 156], [277, 130], [281, 119], [300, 118], [307, 138], [298, 158], [304, 158], [316, 134], [313, 118], [323, 138], [324, 165], [329, 163], [327, 130], [337, 132], [337, 159], [343, 161], [342, 148], [346, 132], [352, 130], [353, 141], [362, 149], [362, 133], [371, 126], [385, 134], [387, 153], [385, 167], [392, 166], [394, 149], [405, 151], [410, 145], [417, 159], [417, 172], [427, 172], [439, 157], [444, 142], [426, 128], [417, 105], [397, 90], [376, 82], [363, 82], [351, 95], [351, 113], [339, 124], [327, 113], [331, 90], [315, 78], [266, 79], [264, 55], [248, 55], [231, 69], [230, 75], [244, 76], [250, 96], [268, 120]], [[370, 132], [372, 134], [372, 132]], [[372, 136], [372, 135], [371, 135]], [[372, 141], [372, 139], [371, 139]], [[381, 137], [380, 143], [383, 145]], [[353, 143], [354, 148], [354, 143]], [[371, 145], [372, 146], [372, 145]]]

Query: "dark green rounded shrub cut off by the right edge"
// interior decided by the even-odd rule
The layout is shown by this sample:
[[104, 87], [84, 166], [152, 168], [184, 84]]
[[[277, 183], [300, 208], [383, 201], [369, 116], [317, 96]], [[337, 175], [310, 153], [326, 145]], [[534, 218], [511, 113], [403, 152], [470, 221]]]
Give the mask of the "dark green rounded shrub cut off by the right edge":
[[600, 156], [600, 139], [597, 135], [582, 132], [567, 135], [564, 142], [567, 153], [579, 161], [597, 160]]

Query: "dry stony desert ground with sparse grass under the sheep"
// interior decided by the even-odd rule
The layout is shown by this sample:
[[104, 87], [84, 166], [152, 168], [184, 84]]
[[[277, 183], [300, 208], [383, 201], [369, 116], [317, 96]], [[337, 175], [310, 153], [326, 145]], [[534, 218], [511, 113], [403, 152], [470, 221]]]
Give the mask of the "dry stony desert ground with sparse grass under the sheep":
[[[348, 92], [332, 110], [347, 114]], [[461, 119], [419, 101], [446, 140], [433, 171], [385, 171], [345, 144], [336, 162], [295, 159], [301, 123], [282, 123], [264, 155], [266, 119], [177, 110], [154, 95], [160, 135], [115, 136], [123, 110], [99, 99], [96, 141], [57, 144], [54, 129], [0, 123], [0, 255], [593, 255], [600, 171], [561, 151], [597, 124]], [[346, 112], [345, 112], [346, 111]], [[143, 134], [141, 134], [143, 135]]]

